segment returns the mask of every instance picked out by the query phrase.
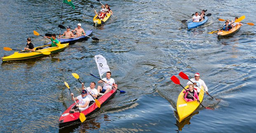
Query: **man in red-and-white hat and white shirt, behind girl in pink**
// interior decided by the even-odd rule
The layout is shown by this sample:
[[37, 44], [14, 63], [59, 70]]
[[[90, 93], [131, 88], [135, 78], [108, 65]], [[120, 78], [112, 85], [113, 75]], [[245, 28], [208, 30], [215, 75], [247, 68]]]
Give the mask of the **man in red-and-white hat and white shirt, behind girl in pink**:
[[[200, 79], [200, 74], [199, 73], [195, 73], [195, 78], [190, 79], [195, 86], [195, 90], [197, 91], [197, 95], [199, 95], [199, 92], [201, 91], [201, 86], [204, 87], [204, 90], [206, 91], [207, 95], [209, 95], [208, 93], [208, 88], [206, 86], [206, 84], [204, 83], [204, 81], [202, 79]], [[190, 81], [188, 81], [187, 85], [191, 84]]]

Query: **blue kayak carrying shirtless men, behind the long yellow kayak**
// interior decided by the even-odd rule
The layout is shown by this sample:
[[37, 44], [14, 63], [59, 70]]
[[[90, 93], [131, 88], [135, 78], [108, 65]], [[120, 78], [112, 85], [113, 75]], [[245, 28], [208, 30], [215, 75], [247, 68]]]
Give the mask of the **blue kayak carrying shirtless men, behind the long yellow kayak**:
[[[87, 36], [92, 36], [92, 30], [85, 30], [85, 34]], [[75, 38], [57, 38], [61, 44], [63, 43], [72, 43], [72, 42], [77, 42], [77, 41], [80, 41], [80, 40], [87, 40], [89, 37], [87, 36], [80, 36], [80, 37], [75, 37]], [[52, 44], [52, 42], [48, 42], [47, 44]]]

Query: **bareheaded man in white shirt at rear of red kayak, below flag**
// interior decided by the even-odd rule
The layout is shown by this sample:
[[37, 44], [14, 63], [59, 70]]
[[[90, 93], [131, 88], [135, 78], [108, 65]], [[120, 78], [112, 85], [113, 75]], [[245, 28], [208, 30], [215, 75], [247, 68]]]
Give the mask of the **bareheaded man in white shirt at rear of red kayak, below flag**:
[[103, 78], [102, 80], [105, 81], [103, 82], [102, 80], [99, 80], [99, 84], [103, 82], [103, 87], [98, 86], [97, 90], [98, 93], [107, 93], [108, 91], [112, 90], [112, 86], [115, 86], [115, 89], [117, 89], [117, 86], [115, 84], [115, 79], [110, 78], [111, 72], [106, 73], [106, 78]]

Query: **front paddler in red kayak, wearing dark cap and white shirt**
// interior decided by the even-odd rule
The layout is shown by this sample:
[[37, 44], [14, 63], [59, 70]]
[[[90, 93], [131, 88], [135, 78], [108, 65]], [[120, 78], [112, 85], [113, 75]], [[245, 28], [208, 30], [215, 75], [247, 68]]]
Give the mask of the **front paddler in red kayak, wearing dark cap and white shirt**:
[[[89, 103], [90, 103], [90, 99], [87, 96], [87, 91], [86, 90], [82, 90], [81, 95], [79, 95], [75, 99], [73, 99], [73, 96], [74, 96], [74, 94], [71, 93], [71, 99], [72, 100], [79, 100], [78, 104], [76, 105], [76, 107], [78, 107], [79, 110], [85, 110], [85, 109], [88, 108]], [[70, 110], [70, 113], [73, 113], [74, 111], [78, 111], [78, 109], [72, 109], [72, 110]]]

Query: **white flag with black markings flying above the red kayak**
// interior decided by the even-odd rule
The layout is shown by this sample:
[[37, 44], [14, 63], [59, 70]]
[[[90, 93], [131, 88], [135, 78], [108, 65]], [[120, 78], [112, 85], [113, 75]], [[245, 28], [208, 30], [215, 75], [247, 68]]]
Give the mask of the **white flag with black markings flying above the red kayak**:
[[98, 70], [99, 70], [99, 75], [102, 76], [103, 73], [110, 71], [108, 64], [107, 64], [107, 60], [106, 58], [104, 58], [102, 55], [98, 54], [95, 57], [95, 62], [98, 66]]

